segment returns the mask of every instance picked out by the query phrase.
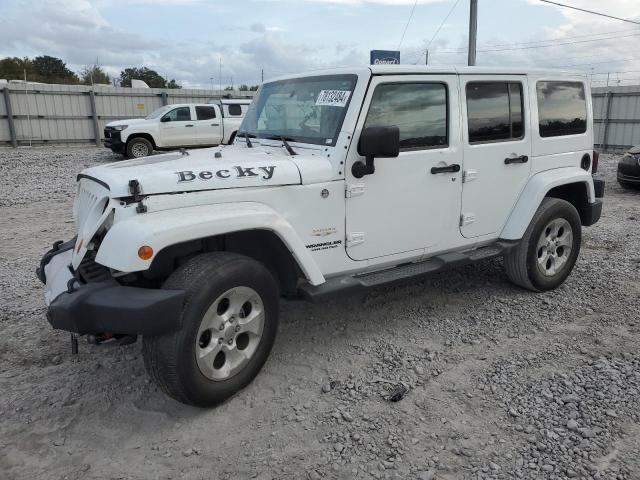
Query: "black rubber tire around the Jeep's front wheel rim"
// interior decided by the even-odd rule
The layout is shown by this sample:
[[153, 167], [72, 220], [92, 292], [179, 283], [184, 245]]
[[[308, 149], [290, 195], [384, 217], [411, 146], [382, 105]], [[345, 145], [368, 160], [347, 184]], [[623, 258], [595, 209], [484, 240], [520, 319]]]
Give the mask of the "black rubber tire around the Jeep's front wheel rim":
[[[198, 366], [196, 337], [209, 307], [236, 287], [249, 287], [260, 296], [264, 306], [262, 336], [241, 370], [230, 378], [212, 380]], [[248, 385], [267, 360], [278, 329], [278, 287], [266, 267], [235, 253], [197, 255], [178, 268], [163, 288], [185, 290], [186, 296], [182, 328], [143, 339], [145, 368], [160, 389], [182, 403], [211, 407]]]

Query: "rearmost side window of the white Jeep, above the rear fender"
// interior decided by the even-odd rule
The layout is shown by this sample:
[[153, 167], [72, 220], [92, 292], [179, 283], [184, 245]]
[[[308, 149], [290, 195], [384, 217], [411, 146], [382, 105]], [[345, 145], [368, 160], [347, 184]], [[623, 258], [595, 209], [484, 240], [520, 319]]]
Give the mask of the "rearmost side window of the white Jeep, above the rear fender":
[[541, 137], [587, 131], [587, 102], [581, 82], [538, 82], [536, 91]]

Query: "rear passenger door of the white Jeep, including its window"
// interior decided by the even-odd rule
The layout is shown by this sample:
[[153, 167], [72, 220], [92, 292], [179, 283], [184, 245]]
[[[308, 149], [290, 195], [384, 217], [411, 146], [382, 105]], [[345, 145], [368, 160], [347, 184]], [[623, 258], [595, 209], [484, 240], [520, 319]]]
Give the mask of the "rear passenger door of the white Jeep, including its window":
[[531, 170], [527, 78], [460, 77], [463, 96], [464, 184], [460, 231], [497, 237]]

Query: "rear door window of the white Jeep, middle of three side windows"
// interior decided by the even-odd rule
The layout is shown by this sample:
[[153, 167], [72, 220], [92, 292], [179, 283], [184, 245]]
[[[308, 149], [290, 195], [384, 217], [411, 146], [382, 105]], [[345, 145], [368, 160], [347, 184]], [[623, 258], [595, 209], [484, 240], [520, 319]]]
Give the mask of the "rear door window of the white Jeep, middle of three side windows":
[[467, 83], [469, 143], [516, 140], [524, 136], [522, 84]]

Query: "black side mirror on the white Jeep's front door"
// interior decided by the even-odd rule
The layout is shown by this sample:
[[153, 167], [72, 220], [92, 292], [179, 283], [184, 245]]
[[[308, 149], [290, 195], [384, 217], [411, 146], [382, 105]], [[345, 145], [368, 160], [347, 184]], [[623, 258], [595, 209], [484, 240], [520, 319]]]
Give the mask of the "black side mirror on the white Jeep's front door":
[[367, 127], [360, 134], [358, 153], [365, 157], [365, 162], [356, 162], [351, 173], [356, 178], [371, 175], [376, 171], [373, 159], [393, 158], [400, 154], [400, 129], [390, 127]]

